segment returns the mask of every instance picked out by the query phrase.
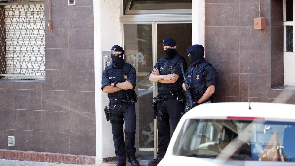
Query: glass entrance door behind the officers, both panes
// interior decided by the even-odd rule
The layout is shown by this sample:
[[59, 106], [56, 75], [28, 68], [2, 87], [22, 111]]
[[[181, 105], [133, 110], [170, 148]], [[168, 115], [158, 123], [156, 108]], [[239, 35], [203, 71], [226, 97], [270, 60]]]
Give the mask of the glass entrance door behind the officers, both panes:
[[[157, 121], [153, 119], [151, 103], [157, 96], [156, 83], [149, 81], [150, 70], [157, 60], [165, 55], [163, 39], [173, 37], [177, 52], [187, 59], [186, 48], [192, 44], [190, 22], [150, 22], [149, 24], [123, 24], [123, 46], [125, 61], [132, 64], [137, 72], [136, 93], [136, 157], [153, 160], [157, 155]], [[170, 125], [170, 137], [172, 136]]]

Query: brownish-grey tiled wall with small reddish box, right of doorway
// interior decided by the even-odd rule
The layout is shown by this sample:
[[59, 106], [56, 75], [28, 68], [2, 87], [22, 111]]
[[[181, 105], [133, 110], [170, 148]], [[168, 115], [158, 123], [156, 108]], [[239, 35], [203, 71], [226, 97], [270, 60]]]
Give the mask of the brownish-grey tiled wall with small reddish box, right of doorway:
[[[205, 0], [205, 57], [218, 72], [216, 102], [271, 102], [284, 84], [283, 0], [261, 1], [266, 28], [254, 29], [259, 0]], [[295, 104], [295, 95], [287, 103]]]

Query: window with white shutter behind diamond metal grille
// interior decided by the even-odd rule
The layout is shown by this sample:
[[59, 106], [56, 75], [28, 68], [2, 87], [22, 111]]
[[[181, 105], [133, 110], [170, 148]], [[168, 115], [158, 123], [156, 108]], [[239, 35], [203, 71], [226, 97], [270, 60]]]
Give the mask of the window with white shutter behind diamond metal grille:
[[1, 79], [45, 80], [42, 3], [0, 3]]

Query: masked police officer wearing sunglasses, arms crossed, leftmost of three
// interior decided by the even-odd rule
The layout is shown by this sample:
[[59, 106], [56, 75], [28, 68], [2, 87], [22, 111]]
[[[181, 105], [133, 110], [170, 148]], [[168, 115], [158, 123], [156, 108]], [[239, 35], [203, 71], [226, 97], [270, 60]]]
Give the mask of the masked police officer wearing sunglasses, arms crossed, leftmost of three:
[[[134, 92], [136, 70], [128, 63], [124, 63], [124, 50], [118, 45], [111, 49], [112, 65], [105, 68], [102, 73], [102, 87], [109, 97], [109, 114], [112, 123], [112, 133], [115, 146], [117, 166], [126, 165], [126, 150], [128, 161], [132, 165], [139, 165], [135, 158], [135, 101]], [[107, 118], [108, 119], [108, 118]], [[123, 137], [123, 123], [125, 120], [126, 148]]]

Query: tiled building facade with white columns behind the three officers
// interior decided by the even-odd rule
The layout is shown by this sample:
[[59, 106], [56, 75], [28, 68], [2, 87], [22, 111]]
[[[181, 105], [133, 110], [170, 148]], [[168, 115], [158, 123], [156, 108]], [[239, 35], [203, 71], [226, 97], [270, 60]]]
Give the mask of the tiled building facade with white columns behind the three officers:
[[[63, 155], [62, 162], [67, 162], [65, 158], [69, 156], [70, 163], [80, 157], [79, 163], [83, 160], [91, 163], [94, 158], [96, 164], [112, 160], [115, 151], [111, 125], [103, 112], [108, 99], [100, 88], [102, 71], [110, 63], [110, 48], [115, 44], [124, 48], [125, 61], [137, 70], [135, 147], [140, 159], [151, 160], [157, 153], [157, 121], [151, 109], [157, 88], [148, 81], [148, 76], [157, 59], [165, 54], [162, 40], [166, 36], [176, 40], [176, 49], [184, 57], [188, 46], [204, 45], [205, 58], [216, 67], [219, 76], [215, 102], [244, 102], [250, 96], [253, 102], [295, 104], [292, 73], [295, 7], [290, 8], [295, 5], [293, 0], [262, 0], [264, 29], [254, 29], [253, 18], [258, 17], [259, 0], [74, 2], [73, 5], [68, 0], [50, 0], [49, 4], [48, 0], [31, 1], [44, 6], [41, 5], [44, 19], [40, 20], [44, 22], [46, 58], [42, 56], [43, 68], [33, 65], [30, 71], [38, 68], [45, 74], [37, 73], [41, 77], [37, 80], [27, 77], [24, 80], [19, 76], [9, 79], [8, 76], [15, 76], [8, 73], [13, 67], [4, 63], [0, 66], [5, 69], [1, 70], [0, 79], [0, 151], [31, 151], [41, 157]], [[0, 9], [9, 9], [5, 5], [10, 2], [5, 3], [1, 3]], [[1, 13], [1, 18], [8, 18], [9, 12]], [[47, 27], [49, 19], [52, 33]], [[2, 21], [4, 19], [0, 19], [0, 25], [7, 28], [7, 19]], [[18, 28], [17, 25], [15, 23]], [[6, 59], [2, 53], [1, 59], [15, 64], [21, 58], [8, 61], [9, 56], [14, 56], [8, 54], [7, 43], [10, 39], [14, 41], [8, 32], [2, 30], [6, 35], [0, 38], [3, 43], [0, 50], [5, 52]], [[35, 47], [30, 47], [34, 52]], [[41, 47], [36, 50], [36, 59], [40, 50]], [[18, 55], [26, 56], [21, 51]], [[43, 61], [34, 62], [42, 64]], [[22, 69], [22, 63], [15, 68]], [[28, 69], [28, 65], [25, 68]], [[7, 146], [8, 136], [14, 136], [14, 146]], [[2, 153], [0, 157], [7, 158]], [[58, 157], [43, 158], [43, 161], [54, 160], [59, 161]]]

